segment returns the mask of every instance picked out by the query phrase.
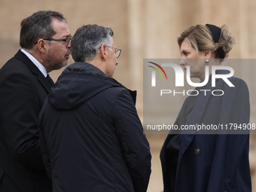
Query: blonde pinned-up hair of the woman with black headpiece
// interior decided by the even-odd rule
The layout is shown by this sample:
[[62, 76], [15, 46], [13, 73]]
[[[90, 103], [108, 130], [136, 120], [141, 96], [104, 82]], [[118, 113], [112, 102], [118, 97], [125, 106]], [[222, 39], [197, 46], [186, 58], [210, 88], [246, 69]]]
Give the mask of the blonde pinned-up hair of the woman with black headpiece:
[[235, 39], [230, 36], [226, 25], [221, 26], [220, 29], [221, 35], [217, 41], [214, 39], [214, 35], [208, 26], [190, 26], [190, 28], [184, 30], [184, 32], [178, 36], [178, 45], [181, 47], [182, 42], [186, 40], [197, 52], [206, 50], [212, 51], [212, 53], [215, 53], [215, 58], [220, 59], [222, 62], [227, 58]]

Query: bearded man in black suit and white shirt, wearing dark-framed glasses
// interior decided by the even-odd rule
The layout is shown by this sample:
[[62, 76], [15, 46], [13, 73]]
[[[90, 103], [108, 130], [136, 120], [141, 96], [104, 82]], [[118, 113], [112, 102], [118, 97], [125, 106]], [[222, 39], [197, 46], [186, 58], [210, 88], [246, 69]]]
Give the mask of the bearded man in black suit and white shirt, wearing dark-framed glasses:
[[56, 11], [38, 11], [21, 22], [21, 50], [0, 70], [0, 191], [47, 192], [38, 138], [38, 114], [53, 81], [66, 66], [71, 35]]

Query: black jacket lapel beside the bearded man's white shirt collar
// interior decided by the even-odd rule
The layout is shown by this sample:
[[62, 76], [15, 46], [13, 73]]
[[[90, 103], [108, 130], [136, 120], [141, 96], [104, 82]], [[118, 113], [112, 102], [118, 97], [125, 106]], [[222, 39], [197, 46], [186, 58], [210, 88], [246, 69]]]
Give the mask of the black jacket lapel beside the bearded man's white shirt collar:
[[47, 91], [47, 93], [50, 92], [50, 81], [47, 80], [47, 78], [44, 77], [44, 75], [40, 72], [40, 70], [35, 66], [35, 64], [27, 57], [22, 51], [18, 51], [16, 53], [15, 57], [17, 59], [20, 59], [22, 62], [26, 64], [26, 66], [29, 67], [31, 72], [37, 76], [38, 81], [41, 83], [41, 85], [44, 87], [44, 89]]

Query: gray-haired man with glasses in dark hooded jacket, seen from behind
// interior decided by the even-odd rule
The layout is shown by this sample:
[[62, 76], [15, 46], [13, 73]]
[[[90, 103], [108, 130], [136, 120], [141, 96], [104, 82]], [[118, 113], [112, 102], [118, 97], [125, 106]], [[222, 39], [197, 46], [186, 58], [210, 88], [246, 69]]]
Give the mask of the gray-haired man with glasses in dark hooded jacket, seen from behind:
[[114, 80], [110, 28], [82, 26], [72, 38], [75, 63], [53, 86], [39, 116], [41, 150], [53, 192], [145, 192], [151, 153], [136, 93]]

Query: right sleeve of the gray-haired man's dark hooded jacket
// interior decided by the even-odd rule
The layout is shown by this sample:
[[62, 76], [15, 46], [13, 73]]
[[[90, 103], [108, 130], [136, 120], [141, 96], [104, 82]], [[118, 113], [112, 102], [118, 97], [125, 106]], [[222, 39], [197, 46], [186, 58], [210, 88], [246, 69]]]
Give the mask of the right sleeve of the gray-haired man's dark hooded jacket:
[[128, 90], [123, 90], [114, 105], [117, 134], [123, 154], [133, 179], [136, 192], [146, 191], [151, 175], [151, 153], [143, 133], [135, 104]]

